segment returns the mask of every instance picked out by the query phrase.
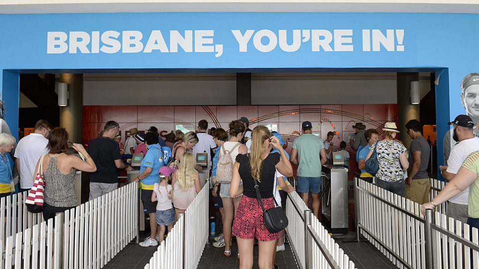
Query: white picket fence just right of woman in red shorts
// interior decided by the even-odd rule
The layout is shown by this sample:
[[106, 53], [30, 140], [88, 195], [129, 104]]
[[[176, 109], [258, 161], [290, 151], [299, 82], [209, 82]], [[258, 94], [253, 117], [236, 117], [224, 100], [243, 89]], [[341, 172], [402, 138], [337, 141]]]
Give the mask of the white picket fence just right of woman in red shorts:
[[299, 268], [355, 268], [354, 263], [339, 248], [296, 192], [288, 194], [286, 216], [289, 246]]

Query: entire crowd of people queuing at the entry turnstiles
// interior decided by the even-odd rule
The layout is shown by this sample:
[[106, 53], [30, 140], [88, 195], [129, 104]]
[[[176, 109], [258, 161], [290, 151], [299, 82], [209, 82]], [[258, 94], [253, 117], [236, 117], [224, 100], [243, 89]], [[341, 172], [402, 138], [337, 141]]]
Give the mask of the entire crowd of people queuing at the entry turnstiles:
[[[343, 153], [348, 168], [353, 167], [351, 155], [355, 156], [361, 180], [422, 204], [423, 214], [425, 209], [449, 201], [448, 216], [479, 228], [479, 138], [475, 135], [475, 123], [468, 115], [459, 115], [449, 124], [457, 144], [445, 156], [446, 164], [440, 170], [450, 183], [431, 201], [431, 147], [423, 137], [419, 121], [411, 120], [405, 126], [412, 139], [409, 148], [397, 139], [400, 131], [396, 124], [387, 122], [382, 130], [356, 123], [352, 126], [356, 134], [349, 140], [352, 151], [346, 150], [345, 141], [340, 141], [336, 150]], [[266, 229], [261, 206], [285, 207], [287, 193], [295, 191], [288, 181], [294, 164], [296, 191], [307, 205], [312, 198], [312, 212], [319, 217], [322, 167], [332, 164], [337, 134], [328, 132], [323, 141], [311, 122], [303, 122], [302, 134], [294, 139], [289, 156], [285, 150], [287, 143], [277, 132], [260, 125], [250, 130], [244, 117], [228, 127], [208, 129], [208, 122], [202, 120], [197, 132], [178, 130], [167, 141], [159, 137], [153, 126], [145, 132], [132, 128], [123, 145], [117, 139], [119, 124], [110, 121], [85, 149], [69, 142], [65, 129], [54, 129], [40, 120], [34, 133], [17, 144], [10, 134], [0, 134], [0, 197], [16, 191], [14, 172], [18, 172], [19, 190], [26, 191], [32, 187], [36, 172], [41, 171], [45, 180], [43, 217], [48, 220], [77, 206], [76, 171], [91, 173], [90, 199], [95, 199], [118, 187], [119, 170], [133, 169], [123, 155], [139, 153], [143, 159], [133, 181], [140, 184], [151, 232], [140, 246], [158, 246], [179, 213], [185, 212], [200, 192], [202, 167], [197, 165], [195, 155], [207, 153], [212, 203], [219, 210], [223, 231], [214, 238], [213, 246], [224, 248], [224, 255], [230, 257], [232, 238], [236, 237], [240, 268], [251, 268], [253, 245], [257, 243], [259, 268], [274, 268], [275, 253], [285, 249], [284, 230], [271, 233]], [[165, 146], [171, 149], [171, 155], [165, 156]], [[14, 159], [9, 153], [13, 150]], [[81, 158], [70, 154], [72, 151], [77, 151]], [[374, 173], [367, 165], [373, 156], [378, 165]]]

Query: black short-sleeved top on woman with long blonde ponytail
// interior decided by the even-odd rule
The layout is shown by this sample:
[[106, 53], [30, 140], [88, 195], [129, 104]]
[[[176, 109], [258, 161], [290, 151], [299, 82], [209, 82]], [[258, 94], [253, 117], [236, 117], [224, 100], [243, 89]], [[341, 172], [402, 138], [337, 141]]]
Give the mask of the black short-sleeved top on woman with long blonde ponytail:
[[[273, 197], [274, 176], [276, 175], [275, 165], [279, 162], [279, 153], [270, 153], [261, 166], [261, 182], [258, 182], [259, 194], [261, 198]], [[240, 163], [240, 177], [243, 180], [243, 194], [250, 198], [256, 198], [256, 189], [254, 180], [251, 176], [251, 166], [249, 165], [249, 156], [247, 154], [238, 154], [236, 161]]]

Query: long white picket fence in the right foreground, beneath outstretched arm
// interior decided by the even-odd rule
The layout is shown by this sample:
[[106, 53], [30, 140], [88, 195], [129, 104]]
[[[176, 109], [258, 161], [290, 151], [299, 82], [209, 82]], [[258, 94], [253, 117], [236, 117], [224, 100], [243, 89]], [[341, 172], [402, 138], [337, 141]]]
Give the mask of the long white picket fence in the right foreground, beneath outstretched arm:
[[355, 197], [357, 231], [398, 268], [479, 268], [478, 229], [448, 219], [445, 208], [425, 219], [418, 203], [360, 179]]

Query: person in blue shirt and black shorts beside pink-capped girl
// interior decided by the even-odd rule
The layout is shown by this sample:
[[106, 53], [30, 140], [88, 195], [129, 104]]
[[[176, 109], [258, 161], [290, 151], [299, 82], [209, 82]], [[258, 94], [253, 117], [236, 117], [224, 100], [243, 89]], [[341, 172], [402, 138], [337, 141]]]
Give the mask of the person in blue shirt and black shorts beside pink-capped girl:
[[[145, 157], [141, 161], [140, 175], [133, 179], [133, 182], [140, 181], [141, 184], [141, 202], [145, 213], [150, 216], [150, 237], [140, 243], [140, 247], [158, 246], [159, 238], [156, 235], [156, 205], [158, 202], [151, 201], [153, 187], [158, 183], [160, 168], [165, 164], [163, 162], [163, 150], [161, 149], [158, 133], [145, 134], [145, 144], [148, 148]], [[156, 236], [155, 236], [156, 235]]]

